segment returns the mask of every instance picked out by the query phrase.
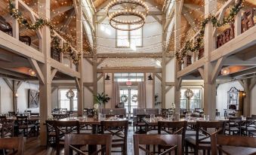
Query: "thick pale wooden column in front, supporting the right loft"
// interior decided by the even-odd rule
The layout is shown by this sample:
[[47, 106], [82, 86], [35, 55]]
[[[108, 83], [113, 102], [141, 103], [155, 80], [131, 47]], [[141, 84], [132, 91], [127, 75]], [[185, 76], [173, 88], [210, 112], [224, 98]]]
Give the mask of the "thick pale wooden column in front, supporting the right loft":
[[[217, 0], [205, 0], [205, 18], [217, 11]], [[213, 25], [208, 23], [205, 26], [205, 58], [204, 65], [204, 111], [210, 115], [210, 119], [215, 117], [216, 109], [216, 81], [212, 80], [213, 64], [211, 63], [211, 51], [214, 50], [215, 39], [213, 37]]]

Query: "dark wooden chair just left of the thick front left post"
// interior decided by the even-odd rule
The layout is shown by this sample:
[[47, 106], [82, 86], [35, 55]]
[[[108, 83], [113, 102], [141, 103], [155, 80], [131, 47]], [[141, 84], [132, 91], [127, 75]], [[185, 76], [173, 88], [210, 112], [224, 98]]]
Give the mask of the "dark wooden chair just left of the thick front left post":
[[29, 124], [27, 116], [17, 116], [16, 123], [18, 126], [18, 134], [23, 132], [23, 136], [26, 136], [26, 138], [29, 138], [29, 133], [32, 133], [32, 131], [36, 132], [35, 124]]

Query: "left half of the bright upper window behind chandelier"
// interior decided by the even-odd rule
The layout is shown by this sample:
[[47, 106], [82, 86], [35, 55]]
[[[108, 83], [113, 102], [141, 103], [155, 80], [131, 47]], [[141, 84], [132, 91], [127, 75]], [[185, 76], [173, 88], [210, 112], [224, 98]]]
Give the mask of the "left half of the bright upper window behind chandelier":
[[[120, 29], [128, 29], [128, 25], [117, 25]], [[116, 46], [129, 47], [129, 34], [128, 31], [116, 30]]]

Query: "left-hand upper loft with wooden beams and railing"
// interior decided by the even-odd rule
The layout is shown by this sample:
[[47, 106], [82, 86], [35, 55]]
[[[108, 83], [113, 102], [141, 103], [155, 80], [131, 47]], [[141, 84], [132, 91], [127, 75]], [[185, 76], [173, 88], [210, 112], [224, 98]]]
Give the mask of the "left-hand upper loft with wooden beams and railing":
[[[51, 1], [50, 17], [42, 15], [39, 2], [8, 0], [1, 1], [0, 6], [1, 74], [23, 80], [33, 80], [36, 74], [40, 79], [42, 73], [36, 68], [49, 62], [52, 78], [79, 78], [81, 53], [91, 50], [85, 35], [84, 51], [76, 47], [78, 8], [73, 1]], [[45, 54], [43, 50], [51, 52]]]

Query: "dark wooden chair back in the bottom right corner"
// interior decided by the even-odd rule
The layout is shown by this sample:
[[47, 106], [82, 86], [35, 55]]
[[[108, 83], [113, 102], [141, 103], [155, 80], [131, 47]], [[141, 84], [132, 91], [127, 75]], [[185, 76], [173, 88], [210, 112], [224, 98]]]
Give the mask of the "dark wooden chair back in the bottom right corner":
[[211, 154], [256, 154], [256, 138], [239, 135], [211, 135]]

